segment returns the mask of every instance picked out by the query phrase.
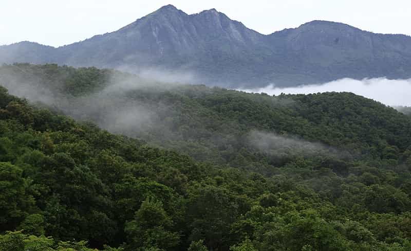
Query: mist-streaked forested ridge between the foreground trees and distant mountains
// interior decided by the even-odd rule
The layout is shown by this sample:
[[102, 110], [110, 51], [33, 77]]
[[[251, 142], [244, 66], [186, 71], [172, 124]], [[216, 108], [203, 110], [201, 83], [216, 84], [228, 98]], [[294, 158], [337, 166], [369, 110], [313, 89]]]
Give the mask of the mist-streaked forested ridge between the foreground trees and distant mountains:
[[[283, 152], [290, 141], [282, 149], [270, 150], [276, 154], [261, 156], [261, 149], [250, 143], [259, 133], [271, 133], [279, 142], [290, 137], [291, 141], [302, 139], [307, 146], [321, 145], [303, 147], [302, 156], [333, 155], [338, 149], [344, 157], [366, 152], [384, 159], [389, 158], [390, 149], [400, 153], [411, 146], [408, 117], [349, 93], [272, 97], [159, 83], [96, 68], [28, 64], [0, 67], [0, 83], [13, 94], [93, 121], [111, 132], [142, 138], [198, 160], [264, 173], [290, 160], [287, 150]], [[242, 163], [238, 152], [253, 162]]]

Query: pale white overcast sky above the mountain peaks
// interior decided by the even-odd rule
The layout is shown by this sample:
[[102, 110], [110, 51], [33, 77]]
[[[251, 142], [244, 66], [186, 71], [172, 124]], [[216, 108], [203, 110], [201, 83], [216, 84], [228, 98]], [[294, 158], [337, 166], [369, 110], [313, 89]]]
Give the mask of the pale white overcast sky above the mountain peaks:
[[167, 4], [188, 14], [215, 8], [264, 34], [327, 20], [377, 33], [411, 35], [409, 0], [1, 0], [0, 45], [71, 44], [115, 31]]

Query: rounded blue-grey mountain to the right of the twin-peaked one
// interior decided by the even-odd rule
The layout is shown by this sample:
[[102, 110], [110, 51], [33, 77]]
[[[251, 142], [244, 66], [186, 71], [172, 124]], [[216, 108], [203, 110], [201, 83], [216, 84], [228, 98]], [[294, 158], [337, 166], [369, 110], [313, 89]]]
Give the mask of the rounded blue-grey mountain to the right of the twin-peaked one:
[[341, 23], [313, 21], [275, 32], [270, 39], [287, 51], [284, 62], [290, 69], [282, 72], [285, 81], [298, 74], [314, 82], [410, 77], [411, 38], [405, 35], [375, 34]]

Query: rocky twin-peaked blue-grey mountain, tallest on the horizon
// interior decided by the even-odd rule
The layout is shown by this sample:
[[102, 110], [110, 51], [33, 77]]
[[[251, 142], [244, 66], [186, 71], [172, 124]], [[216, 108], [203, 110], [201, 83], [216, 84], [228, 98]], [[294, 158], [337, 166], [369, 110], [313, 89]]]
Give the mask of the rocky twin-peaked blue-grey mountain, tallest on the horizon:
[[177, 69], [193, 73], [196, 81], [239, 82], [245, 74], [239, 76], [239, 71], [251, 76], [254, 67], [261, 67], [255, 58], [265, 48], [264, 40], [214, 9], [188, 15], [165, 6], [116, 32], [61, 47], [58, 53], [64, 55], [60, 62], [70, 65]]

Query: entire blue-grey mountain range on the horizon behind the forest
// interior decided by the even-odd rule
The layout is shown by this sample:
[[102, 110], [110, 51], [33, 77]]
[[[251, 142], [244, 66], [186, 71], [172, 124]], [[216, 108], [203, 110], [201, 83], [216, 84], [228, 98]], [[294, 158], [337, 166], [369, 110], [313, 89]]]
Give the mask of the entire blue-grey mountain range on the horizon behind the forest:
[[215, 9], [189, 15], [167, 5], [115, 32], [58, 48], [0, 46], [0, 63], [14, 62], [154, 69], [225, 87], [295, 86], [411, 78], [411, 37], [327, 21], [264, 35]]

